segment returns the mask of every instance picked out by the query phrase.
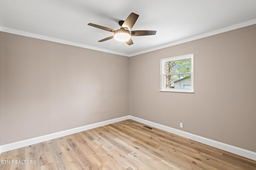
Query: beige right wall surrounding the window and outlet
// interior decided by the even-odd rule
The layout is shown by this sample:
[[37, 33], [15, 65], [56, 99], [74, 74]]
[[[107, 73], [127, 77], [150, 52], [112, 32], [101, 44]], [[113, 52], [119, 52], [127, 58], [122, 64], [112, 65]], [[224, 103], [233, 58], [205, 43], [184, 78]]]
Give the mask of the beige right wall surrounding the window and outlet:
[[[160, 59], [190, 53], [195, 93], [159, 92]], [[256, 25], [130, 57], [130, 115], [256, 152], [255, 64]]]

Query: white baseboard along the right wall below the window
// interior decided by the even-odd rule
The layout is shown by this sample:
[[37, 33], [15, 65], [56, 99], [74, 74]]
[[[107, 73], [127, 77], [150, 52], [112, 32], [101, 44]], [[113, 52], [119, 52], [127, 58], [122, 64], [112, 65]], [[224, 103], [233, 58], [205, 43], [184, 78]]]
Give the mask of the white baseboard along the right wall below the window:
[[154, 123], [152, 121], [147, 121], [145, 119], [140, 119], [138, 117], [129, 116], [129, 118], [134, 120], [134, 121], [138, 121], [140, 123], [144, 123], [146, 125], [150, 125], [152, 127], [156, 127], [158, 129], [162, 129], [164, 131], [168, 131], [170, 133], [174, 133], [176, 135], [180, 135], [182, 137], [186, 137], [188, 139], [192, 139], [194, 141], [204, 143], [206, 145], [210, 145], [210, 146], [218, 148], [218, 149], [222, 149], [222, 150], [225, 150], [225, 151], [228, 151], [228, 152], [240, 155], [240, 156], [244, 156], [244, 157], [252, 159], [252, 160], [256, 160], [256, 152], [252, 152], [250, 150], [234, 147], [232, 145], [228, 145], [228, 144], [225, 144], [225, 143], [214, 141], [212, 139], [207, 139], [207, 138], [204, 138], [204, 137], [200, 137], [200, 136], [194, 135], [192, 133], [180, 131], [180, 130], [174, 129], [172, 127], [168, 127], [168, 126], [165, 126], [165, 125]]

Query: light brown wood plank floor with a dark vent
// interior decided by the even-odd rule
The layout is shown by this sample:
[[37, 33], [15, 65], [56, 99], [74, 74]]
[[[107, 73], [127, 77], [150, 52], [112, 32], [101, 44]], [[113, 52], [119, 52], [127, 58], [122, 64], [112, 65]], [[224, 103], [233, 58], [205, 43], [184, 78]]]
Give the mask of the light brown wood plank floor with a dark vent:
[[254, 160], [144, 126], [125, 120], [3, 152], [10, 164], [0, 170], [256, 170]]

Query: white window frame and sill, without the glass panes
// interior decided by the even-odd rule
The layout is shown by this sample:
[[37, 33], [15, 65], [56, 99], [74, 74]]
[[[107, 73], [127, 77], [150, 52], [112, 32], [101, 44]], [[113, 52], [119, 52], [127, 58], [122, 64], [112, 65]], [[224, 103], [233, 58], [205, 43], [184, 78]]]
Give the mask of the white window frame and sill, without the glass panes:
[[[191, 72], [184, 72], [187, 74], [191, 74], [191, 88], [184, 89], [184, 88], [165, 88], [165, 75], [175, 75], [175, 74], [184, 74], [182, 73], [173, 73], [173, 74], [166, 74], [165, 73], [165, 63], [168, 61], [176, 61], [182, 59], [191, 59]], [[165, 59], [161, 59], [161, 90], [160, 92], [182, 92], [182, 93], [194, 93], [194, 54], [187, 54], [187, 55], [180, 55], [176, 57], [169, 57]]]

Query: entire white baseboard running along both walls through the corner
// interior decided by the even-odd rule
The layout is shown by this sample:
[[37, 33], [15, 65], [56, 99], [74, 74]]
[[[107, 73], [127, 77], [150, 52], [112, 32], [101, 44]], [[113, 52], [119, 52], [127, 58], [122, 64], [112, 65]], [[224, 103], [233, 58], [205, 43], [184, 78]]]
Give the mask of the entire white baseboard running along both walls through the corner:
[[234, 153], [234, 154], [237, 154], [237, 155], [240, 155], [240, 156], [244, 156], [244, 157], [252, 159], [252, 160], [256, 160], [256, 152], [252, 152], [250, 150], [245, 150], [245, 149], [242, 149], [242, 148], [234, 147], [232, 145], [228, 145], [228, 144], [225, 144], [225, 143], [214, 141], [212, 139], [207, 139], [207, 138], [204, 138], [204, 137], [200, 137], [200, 136], [194, 135], [192, 133], [187, 133], [187, 132], [184, 132], [184, 131], [180, 131], [180, 130], [174, 129], [172, 127], [168, 127], [168, 126], [165, 126], [165, 125], [154, 123], [152, 121], [147, 121], [145, 119], [141, 119], [141, 118], [134, 117], [134, 116], [131, 116], [131, 115], [124, 116], [124, 117], [119, 117], [119, 118], [116, 118], [116, 119], [110, 119], [110, 120], [102, 121], [102, 122], [99, 122], [99, 123], [93, 123], [93, 124], [90, 124], [90, 125], [85, 125], [85, 126], [82, 126], [82, 127], [69, 129], [69, 130], [66, 130], [66, 131], [52, 133], [52, 134], [44, 135], [44, 136], [41, 136], [41, 137], [35, 137], [35, 138], [27, 139], [27, 140], [24, 140], [24, 141], [19, 141], [19, 142], [15, 142], [15, 143], [2, 145], [2, 146], [0, 146], [0, 154], [1, 154], [1, 152], [6, 152], [6, 151], [9, 151], [9, 150], [18, 149], [18, 148], [21, 148], [21, 147], [26, 147], [26, 146], [33, 145], [33, 144], [40, 143], [40, 142], [44, 142], [44, 141], [49, 141], [49, 140], [56, 139], [56, 138], [59, 138], [59, 137], [64, 137], [66, 135], [71, 135], [71, 134], [74, 134], [74, 133], [86, 131], [86, 130], [93, 129], [93, 128], [96, 128], [96, 127], [108, 125], [108, 124], [111, 124], [111, 123], [116, 123], [118, 121], [123, 121], [123, 120], [126, 120], [126, 119], [132, 119], [134, 121], [138, 121], [140, 123], [144, 123], [146, 125], [150, 125], [152, 127], [156, 127], [158, 129], [162, 129], [164, 131], [168, 131], [170, 133], [174, 133], [176, 135], [180, 135], [182, 137], [186, 137], [188, 139], [192, 139], [194, 141], [198, 141], [200, 143], [204, 143], [204, 144], [210, 145], [212, 147], [216, 147], [218, 149], [226, 150], [228, 152], [231, 152], [231, 153]]

